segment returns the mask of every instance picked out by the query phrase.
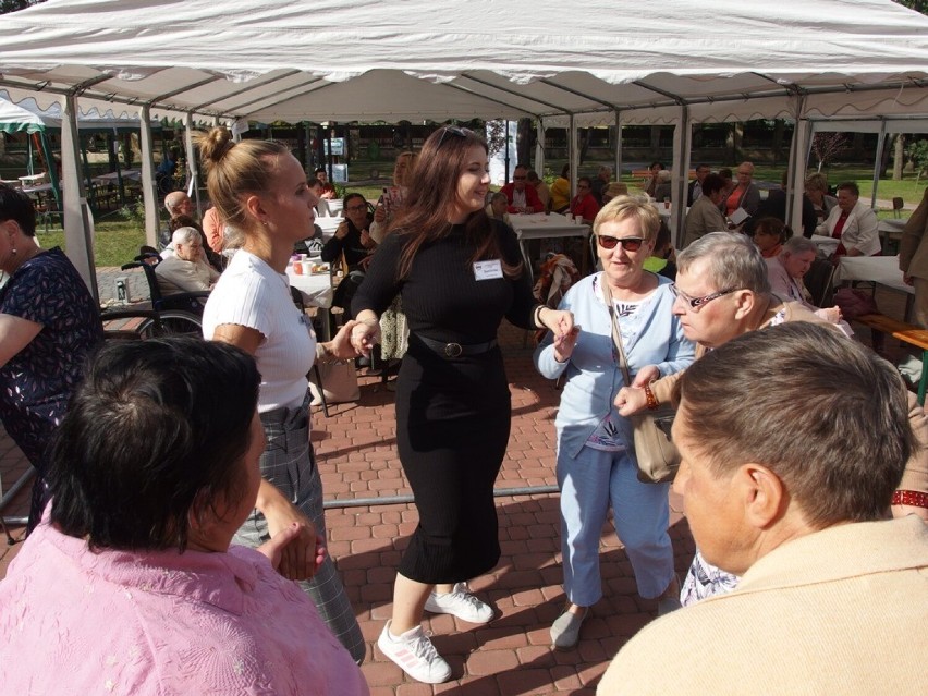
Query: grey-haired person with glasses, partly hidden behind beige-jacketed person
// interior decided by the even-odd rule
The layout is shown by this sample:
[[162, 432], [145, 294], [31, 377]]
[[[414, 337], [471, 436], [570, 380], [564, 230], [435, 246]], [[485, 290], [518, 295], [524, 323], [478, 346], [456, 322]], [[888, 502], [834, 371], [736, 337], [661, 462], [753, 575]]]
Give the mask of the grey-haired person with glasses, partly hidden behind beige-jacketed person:
[[[801, 303], [783, 302], [771, 293], [767, 264], [746, 236], [712, 232], [681, 252], [676, 264], [673, 314], [680, 318], [686, 338], [696, 342], [697, 358], [744, 333], [784, 322], [810, 321], [833, 327]], [[770, 365], [769, 369], [779, 368]], [[656, 366], [643, 367], [632, 387], [623, 388], [615, 398], [619, 414], [627, 417], [649, 405], [669, 403], [680, 374], [659, 377]], [[908, 406], [912, 427], [924, 445], [928, 443], [928, 419], [914, 394], [909, 394]], [[795, 410], [797, 419], [808, 415], [799, 403], [784, 403], [781, 407]], [[928, 520], [928, 450], [924, 447], [917, 448], [907, 464], [893, 497], [892, 512], [914, 513]], [[715, 567], [697, 552], [681, 600], [684, 606], [691, 605], [726, 593], [736, 584], [737, 577]]]

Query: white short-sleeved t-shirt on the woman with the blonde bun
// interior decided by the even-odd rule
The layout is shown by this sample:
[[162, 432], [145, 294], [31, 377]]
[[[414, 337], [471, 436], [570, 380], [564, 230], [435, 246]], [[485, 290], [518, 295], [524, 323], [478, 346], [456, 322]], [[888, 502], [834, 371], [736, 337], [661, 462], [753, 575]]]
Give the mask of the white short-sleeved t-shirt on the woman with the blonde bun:
[[290, 295], [286, 274], [240, 249], [222, 272], [203, 313], [203, 335], [212, 339], [227, 323], [259, 331], [264, 340], [255, 358], [261, 374], [258, 411], [303, 403], [306, 374], [316, 358], [316, 334]]

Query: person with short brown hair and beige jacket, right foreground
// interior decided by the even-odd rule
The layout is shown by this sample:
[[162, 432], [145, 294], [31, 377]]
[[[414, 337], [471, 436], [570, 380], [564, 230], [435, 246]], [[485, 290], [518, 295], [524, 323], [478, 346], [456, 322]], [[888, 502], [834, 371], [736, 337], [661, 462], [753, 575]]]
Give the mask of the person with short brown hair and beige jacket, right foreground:
[[917, 447], [892, 366], [795, 321], [724, 342], [675, 391], [674, 488], [741, 582], [643, 628], [597, 693], [925, 693], [928, 525], [883, 520]]

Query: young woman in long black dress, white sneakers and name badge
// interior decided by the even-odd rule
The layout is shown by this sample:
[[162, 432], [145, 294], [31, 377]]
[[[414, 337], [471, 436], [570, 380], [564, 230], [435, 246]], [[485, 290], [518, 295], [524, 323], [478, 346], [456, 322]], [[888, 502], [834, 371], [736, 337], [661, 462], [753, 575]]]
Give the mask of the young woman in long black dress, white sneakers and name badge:
[[402, 296], [410, 349], [396, 386], [396, 441], [419, 525], [400, 563], [393, 616], [378, 645], [412, 677], [451, 669], [422, 628], [423, 611], [486, 623], [492, 609], [466, 581], [500, 557], [493, 483], [510, 431], [510, 393], [497, 330], [503, 317], [573, 330], [570, 313], [538, 305], [514, 233], [484, 211], [487, 146], [445, 126], [426, 141], [410, 195], [355, 295], [356, 350], [378, 340], [378, 318]]

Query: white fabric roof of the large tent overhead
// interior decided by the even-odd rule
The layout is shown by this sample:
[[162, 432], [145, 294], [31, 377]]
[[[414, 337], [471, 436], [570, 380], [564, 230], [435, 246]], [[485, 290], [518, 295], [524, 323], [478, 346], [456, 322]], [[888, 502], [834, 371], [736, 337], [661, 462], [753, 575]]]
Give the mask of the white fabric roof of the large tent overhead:
[[4, 15], [0, 86], [265, 122], [573, 115], [594, 125], [619, 111], [623, 123], [672, 123], [683, 105], [718, 121], [801, 108], [847, 117], [857, 102], [928, 111], [928, 17], [891, 0], [662, 0], [652, 10], [48, 0]]

